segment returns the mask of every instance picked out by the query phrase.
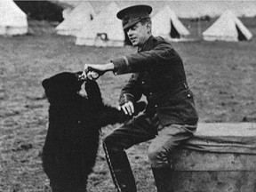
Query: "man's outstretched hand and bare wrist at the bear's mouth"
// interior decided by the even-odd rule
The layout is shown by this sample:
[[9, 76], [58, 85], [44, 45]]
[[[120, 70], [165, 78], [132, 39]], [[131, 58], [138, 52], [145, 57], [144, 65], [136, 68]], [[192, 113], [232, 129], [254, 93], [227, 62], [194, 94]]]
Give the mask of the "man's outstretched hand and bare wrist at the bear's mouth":
[[102, 76], [105, 72], [114, 70], [115, 66], [113, 63], [107, 64], [84, 64], [84, 71], [82, 76], [91, 80], [97, 79]]

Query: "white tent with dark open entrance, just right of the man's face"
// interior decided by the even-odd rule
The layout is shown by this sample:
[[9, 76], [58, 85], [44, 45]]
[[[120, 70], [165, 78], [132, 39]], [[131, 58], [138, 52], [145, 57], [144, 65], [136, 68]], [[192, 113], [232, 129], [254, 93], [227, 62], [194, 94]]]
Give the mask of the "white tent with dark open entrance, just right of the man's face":
[[190, 33], [180, 22], [169, 5], [165, 5], [162, 10], [156, 13], [152, 18], [152, 34], [154, 36], [163, 36], [167, 39], [182, 38]]

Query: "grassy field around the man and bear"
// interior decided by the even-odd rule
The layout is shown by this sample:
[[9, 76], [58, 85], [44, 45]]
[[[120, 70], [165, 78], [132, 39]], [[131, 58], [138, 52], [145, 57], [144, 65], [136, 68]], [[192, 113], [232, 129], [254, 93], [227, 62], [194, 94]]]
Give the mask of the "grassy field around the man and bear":
[[[197, 23], [183, 20], [196, 36]], [[201, 28], [211, 25], [202, 22]], [[196, 94], [200, 122], [256, 121], [256, 19], [244, 19], [250, 42], [172, 43], [184, 60], [188, 84]], [[33, 36], [0, 37], [0, 191], [48, 191], [41, 150], [48, 126], [47, 100], [41, 82], [62, 71], [82, 70], [84, 63], [104, 63], [132, 47], [76, 46], [75, 38], [57, 36], [47, 22], [30, 22]], [[200, 36], [199, 36], [200, 37]], [[198, 36], [197, 36], [198, 39]], [[106, 103], [117, 106], [120, 89], [130, 75], [107, 73], [98, 80]], [[101, 137], [115, 126], [102, 130]], [[148, 143], [128, 150], [139, 192], [154, 192], [147, 156]], [[114, 191], [100, 146], [89, 192]]]

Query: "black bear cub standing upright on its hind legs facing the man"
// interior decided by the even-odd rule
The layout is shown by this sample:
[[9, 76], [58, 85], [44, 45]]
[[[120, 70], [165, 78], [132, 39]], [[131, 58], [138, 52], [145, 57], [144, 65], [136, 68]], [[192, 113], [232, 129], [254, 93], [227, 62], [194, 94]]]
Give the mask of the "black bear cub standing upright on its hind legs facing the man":
[[[87, 96], [78, 94], [84, 83], [78, 80], [79, 75], [81, 72], [63, 72], [42, 82], [50, 102], [42, 160], [52, 192], [86, 191], [99, 148], [100, 128], [129, 118], [104, 105], [95, 81], [86, 80]], [[136, 104], [136, 113], [144, 107], [145, 103]]]

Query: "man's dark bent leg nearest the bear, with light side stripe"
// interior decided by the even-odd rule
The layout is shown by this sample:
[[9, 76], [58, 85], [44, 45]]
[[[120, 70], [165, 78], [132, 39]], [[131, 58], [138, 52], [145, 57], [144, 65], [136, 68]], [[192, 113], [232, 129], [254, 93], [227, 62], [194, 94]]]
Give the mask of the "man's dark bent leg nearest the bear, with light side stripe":
[[156, 137], [158, 124], [147, 116], [138, 116], [116, 129], [103, 141], [109, 170], [118, 192], [136, 192], [136, 184], [125, 149]]

